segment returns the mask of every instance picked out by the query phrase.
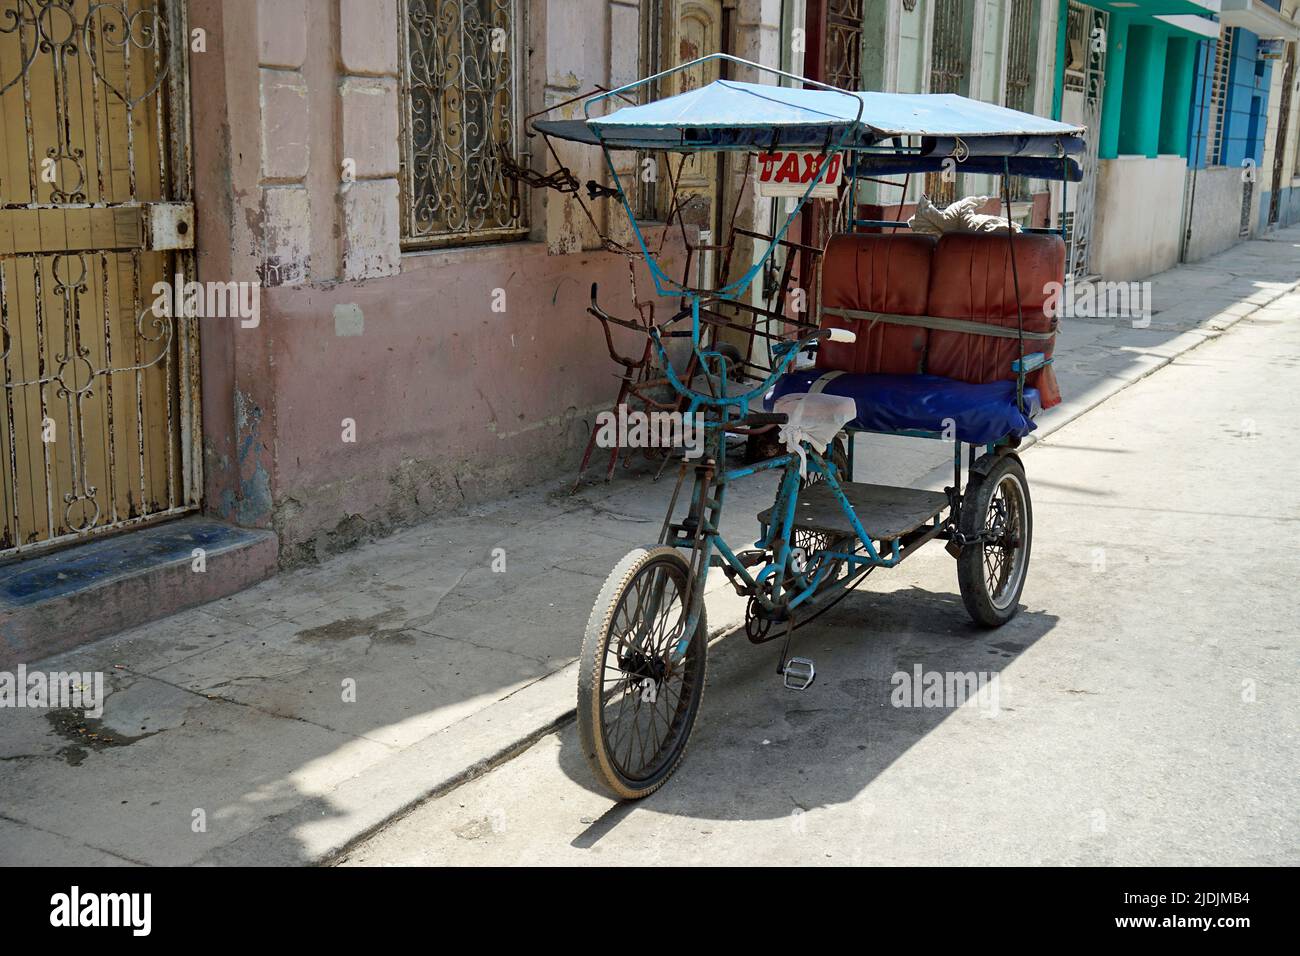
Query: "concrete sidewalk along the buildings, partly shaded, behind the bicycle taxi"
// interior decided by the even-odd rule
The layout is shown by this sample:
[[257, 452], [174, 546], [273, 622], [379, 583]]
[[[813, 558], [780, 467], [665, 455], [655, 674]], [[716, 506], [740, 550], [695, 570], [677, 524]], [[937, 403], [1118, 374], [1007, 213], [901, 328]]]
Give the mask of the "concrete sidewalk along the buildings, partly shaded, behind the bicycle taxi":
[[[1153, 280], [1148, 328], [1066, 320], [1043, 436], [1300, 280], [1300, 229]], [[1295, 299], [1291, 299], [1294, 303]], [[858, 442], [858, 477], [940, 486], [937, 442]], [[1032, 460], [1030, 462], [1032, 481]], [[100, 721], [0, 710], [0, 864], [292, 864], [335, 856], [571, 713], [610, 567], [658, 535], [671, 480], [567, 483], [421, 525], [29, 670], [103, 671]], [[771, 477], [737, 485], [744, 540]], [[719, 578], [710, 627], [742, 604]]]

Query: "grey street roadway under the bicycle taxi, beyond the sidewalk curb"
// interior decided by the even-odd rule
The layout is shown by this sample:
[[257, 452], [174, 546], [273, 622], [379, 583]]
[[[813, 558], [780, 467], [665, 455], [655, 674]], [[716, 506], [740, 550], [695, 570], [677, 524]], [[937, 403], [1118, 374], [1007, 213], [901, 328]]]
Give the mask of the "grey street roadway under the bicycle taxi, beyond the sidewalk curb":
[[[355, 847], [373, 864], [1300, 862], [1300, 295], [1034, 445], [1023, 609], [933, 546], [775, 645], [716, 641], [685, 762], [592, 788], [572, 726]], [[987, 674], [965, 706], [893, 675]], [[992, 687], [992, 685], [989, 685]]]

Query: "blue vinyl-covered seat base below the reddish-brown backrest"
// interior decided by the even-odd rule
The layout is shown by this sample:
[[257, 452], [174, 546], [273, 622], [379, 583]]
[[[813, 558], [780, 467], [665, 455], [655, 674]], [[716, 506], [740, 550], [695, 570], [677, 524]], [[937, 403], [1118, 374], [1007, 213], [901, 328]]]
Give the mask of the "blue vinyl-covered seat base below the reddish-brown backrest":
[[[807, 392], [829, 369], [810, 368], [777, 378], [763, 397], [763, 407], [776, 399]], [[1023, 438], [1036, 425], [1043, 403], [1037, 389], [1024, 389], [1024, 411], [1015, 402], [1014, 381], [982, 385], [937, 375], [838, 375], [820, 389], [845, 395], [858, 406], [849, 428], [867, 432], [945, 432], [956, 428], [957, 441], [988, 445], [1006, 437]]]

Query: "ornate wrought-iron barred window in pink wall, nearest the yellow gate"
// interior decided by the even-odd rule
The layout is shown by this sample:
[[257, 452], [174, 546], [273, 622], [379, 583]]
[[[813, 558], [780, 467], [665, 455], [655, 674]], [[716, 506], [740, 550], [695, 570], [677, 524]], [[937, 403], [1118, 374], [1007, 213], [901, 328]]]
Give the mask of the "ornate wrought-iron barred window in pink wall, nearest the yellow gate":
[[519, 161], [520, 0], [400, 0], [402, 242], [406, 248], [526, 234]]

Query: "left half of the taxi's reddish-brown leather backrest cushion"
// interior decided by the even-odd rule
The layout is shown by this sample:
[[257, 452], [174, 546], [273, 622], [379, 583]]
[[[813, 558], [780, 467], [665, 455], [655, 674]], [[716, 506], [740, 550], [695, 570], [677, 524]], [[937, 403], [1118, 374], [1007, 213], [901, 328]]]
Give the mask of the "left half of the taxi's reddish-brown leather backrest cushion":
[[[836, 235], [822, 259], [822, 304], [863, 312], [926, 315], [935, 238], [896, 233]], [[855, 332], [853, 345], [823, 342], [818, 368], [911, 375], [922, 371], [928, 329], [824, 315], [823, 328]]]

